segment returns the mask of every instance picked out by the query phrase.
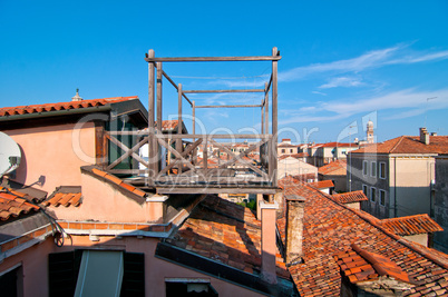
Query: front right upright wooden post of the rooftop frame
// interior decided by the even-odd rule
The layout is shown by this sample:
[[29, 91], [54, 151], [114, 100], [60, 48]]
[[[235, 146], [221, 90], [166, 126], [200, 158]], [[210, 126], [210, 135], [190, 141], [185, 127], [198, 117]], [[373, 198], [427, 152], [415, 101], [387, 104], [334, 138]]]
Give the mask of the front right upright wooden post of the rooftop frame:
[[[277, 56], [277, 49], [272, 49], [272, 57]], [[277, 61], [272, 61], [272, 142], [270, 156], [270, 178], [272, 178], [272, 186], [276, 187], [276, 145], [277, 145]]]

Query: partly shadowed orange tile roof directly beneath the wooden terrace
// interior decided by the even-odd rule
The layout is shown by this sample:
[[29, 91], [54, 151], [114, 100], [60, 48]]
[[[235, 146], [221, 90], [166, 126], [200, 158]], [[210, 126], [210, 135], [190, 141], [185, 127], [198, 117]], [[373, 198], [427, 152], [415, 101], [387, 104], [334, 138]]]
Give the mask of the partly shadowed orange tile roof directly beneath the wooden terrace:
[[[261, 222], [217, 196], [208, 195], [167, 242], [250, 274], [261, 270]], [[276, 270], [289, 278], [280, 255]]]

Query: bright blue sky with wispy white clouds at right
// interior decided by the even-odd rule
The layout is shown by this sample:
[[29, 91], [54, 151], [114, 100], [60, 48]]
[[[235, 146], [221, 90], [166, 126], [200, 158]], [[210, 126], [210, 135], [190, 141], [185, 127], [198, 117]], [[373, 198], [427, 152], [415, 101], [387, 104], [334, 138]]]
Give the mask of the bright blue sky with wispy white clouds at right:
[[[425, 125], [448, 133], [448, 1], [92, 2], [0, 1], [1, 107], [68, 101], [76, 88], [85, 99], [138, 96], [147, 107], [148, 49], [158, 57], [267, 56], [277, 47], [280, 138], [362, 139], [369, 119], [378, 141]], [[184, 89], [244, 89], [263, 86], [271, 66], [164, 70]], [[168, 83], [164, 97], [167, 119], [177, 111]], [[261, 101], [253, 93], [191, 99]], [[260, 128], [259, 109], [196, 116], [208, 132]]]

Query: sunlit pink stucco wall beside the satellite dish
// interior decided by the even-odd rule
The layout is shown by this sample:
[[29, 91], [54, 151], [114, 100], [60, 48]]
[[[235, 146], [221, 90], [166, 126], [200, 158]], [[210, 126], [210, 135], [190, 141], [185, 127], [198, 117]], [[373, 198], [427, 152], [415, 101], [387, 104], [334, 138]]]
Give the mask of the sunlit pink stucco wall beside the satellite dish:
[[75, 123], [6, 130], [21, 148], [17, 181], [51, 194], [59, 186], [80, 186], [80, 167], [95, 162], [95, 125]]

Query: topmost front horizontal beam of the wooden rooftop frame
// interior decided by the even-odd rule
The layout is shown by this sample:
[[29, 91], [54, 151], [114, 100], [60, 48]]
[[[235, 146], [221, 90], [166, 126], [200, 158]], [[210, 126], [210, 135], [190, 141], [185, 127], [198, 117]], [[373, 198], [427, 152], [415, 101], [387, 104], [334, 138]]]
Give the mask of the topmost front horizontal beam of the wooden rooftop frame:
[[147, 62], [221, 62], [221, 61], [279, 61], [281, 56], [249, 56], [249, 57], [146, 57]]

